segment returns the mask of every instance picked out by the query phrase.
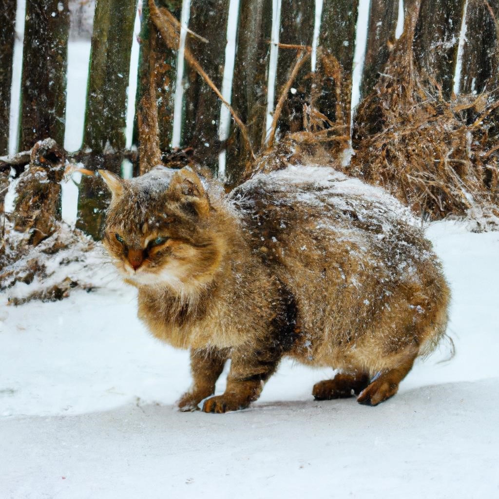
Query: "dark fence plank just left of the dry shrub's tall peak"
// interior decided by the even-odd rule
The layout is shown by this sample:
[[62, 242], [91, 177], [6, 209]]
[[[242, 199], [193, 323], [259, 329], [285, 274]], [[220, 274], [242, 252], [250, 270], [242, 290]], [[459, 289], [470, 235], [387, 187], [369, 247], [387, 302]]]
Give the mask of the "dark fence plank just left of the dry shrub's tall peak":
[[388, 44], [395, 40], [399, 0], [371, 0], [366, 56], [360, 98], [372, 92], [388, 60]]

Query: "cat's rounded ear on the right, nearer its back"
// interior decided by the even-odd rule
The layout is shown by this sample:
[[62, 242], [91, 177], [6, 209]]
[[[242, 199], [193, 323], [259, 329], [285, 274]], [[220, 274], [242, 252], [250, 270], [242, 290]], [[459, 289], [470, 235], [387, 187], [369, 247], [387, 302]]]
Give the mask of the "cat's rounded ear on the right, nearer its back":
[[210, 213], [210, 200], [201, 179], [190, 168], [182, 168], [175, 173], [168, 191], [180, 201], [186, 211], [204, 216]]

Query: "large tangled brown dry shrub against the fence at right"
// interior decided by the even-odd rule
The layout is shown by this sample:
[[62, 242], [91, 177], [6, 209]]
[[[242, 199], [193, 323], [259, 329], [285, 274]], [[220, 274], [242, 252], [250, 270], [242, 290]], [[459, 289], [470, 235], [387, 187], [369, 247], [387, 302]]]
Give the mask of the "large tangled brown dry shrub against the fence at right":
[[491, 95], [444, 99], [439, 85], [414, 64], [414, 10], [384, 73], [359, 106], [356, 155], [344, 170], [384, 186], [424, 217], [497, 206], [499, 102]]

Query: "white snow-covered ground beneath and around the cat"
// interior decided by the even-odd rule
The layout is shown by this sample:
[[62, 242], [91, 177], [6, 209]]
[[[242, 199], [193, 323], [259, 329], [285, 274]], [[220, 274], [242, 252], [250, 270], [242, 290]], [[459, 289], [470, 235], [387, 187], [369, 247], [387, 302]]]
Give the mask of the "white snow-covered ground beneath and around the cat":
[[56, 303], [0, 294], [0, 498], [499, 497], [499, 233], [427, 234], [456, 355], [444, 343], [374, 408], [314, 401], [331, 373], [285, 361], [249, 409], [181, 413], [188, 355], [148, 335], [114, 273]]

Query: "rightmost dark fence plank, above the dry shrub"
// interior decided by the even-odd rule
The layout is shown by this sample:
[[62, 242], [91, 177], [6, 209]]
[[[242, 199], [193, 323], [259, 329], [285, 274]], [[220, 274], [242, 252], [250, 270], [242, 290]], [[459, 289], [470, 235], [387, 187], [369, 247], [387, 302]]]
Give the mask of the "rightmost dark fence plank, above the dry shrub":
[[499, 1], [488, 0], [487, 3], [478, 0], [469, 0], [468, 3], [461, 93], [491, 91], [499, 83]]

